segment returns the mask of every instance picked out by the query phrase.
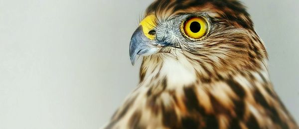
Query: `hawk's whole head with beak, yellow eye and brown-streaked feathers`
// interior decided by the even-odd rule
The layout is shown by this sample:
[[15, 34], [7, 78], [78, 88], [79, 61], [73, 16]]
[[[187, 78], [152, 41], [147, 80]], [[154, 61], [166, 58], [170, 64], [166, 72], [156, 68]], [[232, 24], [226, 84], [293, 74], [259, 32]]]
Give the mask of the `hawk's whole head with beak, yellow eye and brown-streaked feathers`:
[[267, 59], [249, 14], [236, 0], [156, 0], [131, 38], [132, 64], [137, 55], [143, 56], [141, 80], [155, 69], [171, 76], [169, 71], [181, 68], [203, 80], [219, 79]]

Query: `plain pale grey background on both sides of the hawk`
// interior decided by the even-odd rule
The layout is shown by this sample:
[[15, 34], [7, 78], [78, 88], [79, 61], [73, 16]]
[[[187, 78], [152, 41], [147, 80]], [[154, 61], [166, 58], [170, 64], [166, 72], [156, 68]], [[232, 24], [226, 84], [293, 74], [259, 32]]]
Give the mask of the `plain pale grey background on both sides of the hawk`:
[[[138, 83], [129, 41], [151, 0], [0, 0], [0, 129], [98, 129]], [[299, 121], [299, 0], [244, 0]]]

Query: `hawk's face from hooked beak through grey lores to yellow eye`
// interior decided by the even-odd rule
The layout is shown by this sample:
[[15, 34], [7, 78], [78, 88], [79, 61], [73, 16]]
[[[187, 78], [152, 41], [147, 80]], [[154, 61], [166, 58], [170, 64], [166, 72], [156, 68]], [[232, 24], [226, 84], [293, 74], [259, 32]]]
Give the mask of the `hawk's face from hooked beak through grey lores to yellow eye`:
[[[136, 55], [194, 51], [196, 45], [200, 45], [199, 42], [209, 34], [210, 27], [210, 18], [206, 13], [159, 18], [149, 14], [132, 36], [131, 61], [134, 64]], [[176, 48], [182, 51], [176, 51]]]

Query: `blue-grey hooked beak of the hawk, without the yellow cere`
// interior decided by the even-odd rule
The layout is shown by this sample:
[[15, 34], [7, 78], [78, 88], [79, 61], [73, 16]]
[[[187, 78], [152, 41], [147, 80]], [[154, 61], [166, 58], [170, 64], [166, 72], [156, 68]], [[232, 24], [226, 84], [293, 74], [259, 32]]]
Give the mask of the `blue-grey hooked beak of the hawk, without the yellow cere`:
[[148, 56], [157, 53], [161, 46], [167, 43], [150, 40], [143, 32], [142, 26], [139, 26], [132, 35], [130, 42], [130, 59], [132, 65], [135, 64], [136, 56]]

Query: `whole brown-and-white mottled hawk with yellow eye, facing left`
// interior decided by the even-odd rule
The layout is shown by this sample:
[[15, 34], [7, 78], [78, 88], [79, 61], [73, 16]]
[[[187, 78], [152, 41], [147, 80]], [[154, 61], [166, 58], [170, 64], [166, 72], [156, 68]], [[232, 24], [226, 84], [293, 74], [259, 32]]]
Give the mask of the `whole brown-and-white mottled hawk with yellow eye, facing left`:
[[155, 0], [129, 48], [140, 82], [104, 129], [299, 129], [239, 0]]

